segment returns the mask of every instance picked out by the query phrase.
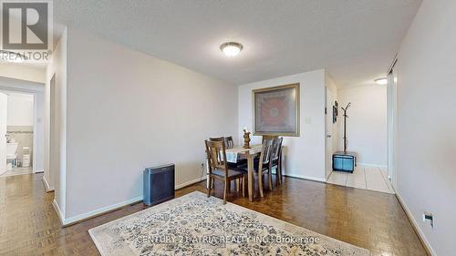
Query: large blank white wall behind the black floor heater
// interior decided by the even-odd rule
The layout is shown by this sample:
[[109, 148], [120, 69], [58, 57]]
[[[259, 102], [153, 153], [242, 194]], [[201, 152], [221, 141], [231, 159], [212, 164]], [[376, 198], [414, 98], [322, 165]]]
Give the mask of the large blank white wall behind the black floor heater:
[[204, 139], [237, 139], [237, 87], [76, 29], [67, 43], [66, 219], [140, 199], [152, 164], [201, 180]]

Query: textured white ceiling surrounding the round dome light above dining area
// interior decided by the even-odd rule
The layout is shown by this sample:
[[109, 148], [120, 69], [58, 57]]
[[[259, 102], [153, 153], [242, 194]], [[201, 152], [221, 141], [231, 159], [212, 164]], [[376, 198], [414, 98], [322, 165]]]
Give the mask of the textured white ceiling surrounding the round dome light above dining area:
[[[326, 67], [346, 87], [385, 75], [420, 3], [54, 0], [54, 18], [236, 85]], [[226, 41], [243, 52], [223, 56]]]

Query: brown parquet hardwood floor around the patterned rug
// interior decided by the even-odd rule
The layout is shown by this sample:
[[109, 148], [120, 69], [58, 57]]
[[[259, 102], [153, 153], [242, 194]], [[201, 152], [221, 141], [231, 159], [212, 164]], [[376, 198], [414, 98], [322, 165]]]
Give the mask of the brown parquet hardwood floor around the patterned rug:
[[[99, 255], [88, 229], [146, 207], [142, 203], [61, 228], [42, 174], [0, 178], [0, 255]], [[176, 192], [206, 191], [201, 182]], [[222, 184], [212, 195], [223, 197]], [[426, 255], [394, 195], [285, 179], [264, 199], [250, 202], [235, 192], [229, 201], [308, 230], [363, 247], [373, 255]]]

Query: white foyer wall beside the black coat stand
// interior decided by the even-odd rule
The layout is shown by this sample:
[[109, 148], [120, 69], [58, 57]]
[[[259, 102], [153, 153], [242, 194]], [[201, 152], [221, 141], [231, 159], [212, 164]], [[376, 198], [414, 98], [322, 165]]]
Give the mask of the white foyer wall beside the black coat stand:
[[[347, 107], [347, 150], [358, 163], [388, 165], [387, 86], [346, 87], [338, 90], [339, 107]], [[339, 108], [338, 148], [344, 149], [344, 111]]]

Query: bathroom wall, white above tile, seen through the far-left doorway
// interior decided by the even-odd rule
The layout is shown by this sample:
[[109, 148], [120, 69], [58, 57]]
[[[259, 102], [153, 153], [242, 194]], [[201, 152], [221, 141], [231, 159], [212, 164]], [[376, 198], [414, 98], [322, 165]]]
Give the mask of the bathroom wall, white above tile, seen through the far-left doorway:
[[27, 94], [8, 93], [6, 132], [15, 139], [17, 159], [22, 159], [24, 147], [30, 148], [30, 165], [33, 156], [34, 97]]

